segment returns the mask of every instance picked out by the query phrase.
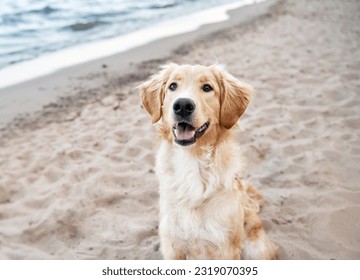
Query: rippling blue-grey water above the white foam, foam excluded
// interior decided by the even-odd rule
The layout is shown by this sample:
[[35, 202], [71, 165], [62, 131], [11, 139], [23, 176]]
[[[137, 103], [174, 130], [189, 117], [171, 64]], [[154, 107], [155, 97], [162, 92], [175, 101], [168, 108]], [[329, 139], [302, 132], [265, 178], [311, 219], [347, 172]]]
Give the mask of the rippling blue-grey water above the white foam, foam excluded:
[[231, 2], [239, 1], [1, 0], [0, 69]]

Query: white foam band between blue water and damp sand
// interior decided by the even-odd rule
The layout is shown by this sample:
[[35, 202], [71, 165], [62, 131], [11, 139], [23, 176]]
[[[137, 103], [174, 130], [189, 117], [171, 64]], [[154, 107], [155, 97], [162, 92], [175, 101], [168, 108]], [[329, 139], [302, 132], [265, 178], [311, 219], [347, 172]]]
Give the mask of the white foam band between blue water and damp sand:
[[207, 24], [226, 21], [229, 19], [228, 11], [254, 4], [254, 2], [256, 1], [241, 0], [240, 2], [220, 4], [203, 11], [145, 26], [127, 34], [67, 47], [45, 53], [28, 61], [8, 65], [8, 67], [0, 69], [0, 88], [7, 88], [79, 64], [124, 53], [156, 40], [190, 33]]

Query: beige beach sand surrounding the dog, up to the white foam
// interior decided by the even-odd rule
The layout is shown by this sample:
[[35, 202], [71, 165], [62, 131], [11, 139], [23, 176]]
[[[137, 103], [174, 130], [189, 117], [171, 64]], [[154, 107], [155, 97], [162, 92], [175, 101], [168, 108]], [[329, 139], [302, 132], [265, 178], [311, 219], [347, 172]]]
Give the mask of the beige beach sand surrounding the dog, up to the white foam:
[[231, 15], [123, 64], [119, 54], [0, 91], [38, 97], [0, 101], [0, 258], [161, 259], [158, 139], [135, 86], [159, 64], [217, 61], [257, 91], [237, 139], [279, 259], [360, 259], [359, 2]]

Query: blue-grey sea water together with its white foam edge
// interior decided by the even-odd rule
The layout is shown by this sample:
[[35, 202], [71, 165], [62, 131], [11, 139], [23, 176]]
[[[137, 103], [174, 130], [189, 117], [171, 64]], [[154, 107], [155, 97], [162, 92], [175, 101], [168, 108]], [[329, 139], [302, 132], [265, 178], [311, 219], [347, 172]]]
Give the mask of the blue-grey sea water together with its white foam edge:
[[227, 19], [253, 0], [1, 0], [0, 87]]

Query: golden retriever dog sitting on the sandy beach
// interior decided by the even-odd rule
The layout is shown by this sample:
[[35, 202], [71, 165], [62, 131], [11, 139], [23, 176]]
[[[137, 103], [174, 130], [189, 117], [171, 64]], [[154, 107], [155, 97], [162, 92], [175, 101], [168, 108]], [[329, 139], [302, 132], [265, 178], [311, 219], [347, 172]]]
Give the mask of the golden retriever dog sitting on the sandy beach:
[[274, 259], [258, 216], [262, 196], [241, 179], [233, 128], [252, 88], [220, 65], [169, 64], [139, 86], [161, 138], [161, 252], [165, 259]]

